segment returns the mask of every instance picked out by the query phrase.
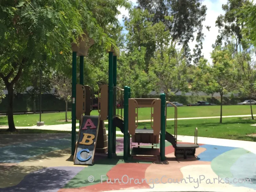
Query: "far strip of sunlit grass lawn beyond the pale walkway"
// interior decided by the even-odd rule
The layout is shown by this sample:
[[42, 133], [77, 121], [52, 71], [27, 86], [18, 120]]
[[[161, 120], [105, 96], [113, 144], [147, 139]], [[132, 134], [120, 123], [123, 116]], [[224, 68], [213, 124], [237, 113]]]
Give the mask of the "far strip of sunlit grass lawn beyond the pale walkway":
[[[256, 110], [256, 105], [252, 106], [253, 111]], [[139, 108], [138, 109], [138, 119], [145, 120], [150, 119], [150, 108]], [[121, 110], [119, 110], [119, 114]], [[223, 116], [229, 115], [249, 115], [250, 106], [249, 105], [227, 105], [223, 106]], [[93, 110], [91, 115], [98, 115], [97, 110]], [[220, 106], [191, 106], [191, 107], [178, 107], [178, 118], [182, 117], [205, 117], [205, 116], [220, 116]], [[167, 118], [174, 117], [174, 108], [168, 107]], [[58, 113], [43, 113], [42, 121], [46, 125], [53, 124], [66, 124], [71, 123], [63, 122], [65, 119], [65, 112]], [[68, 112], [68, 119], [71, 119], [71, 112]], [[39, 114], [26, 114], [26, 115], [14, 115], [14, 123], [16, 126], [33, 126], [39, 121]], [[77, 121], [78, 123], [78, 121]], [[7, 116], [0, 117], [0, 125], [8, 125]]]

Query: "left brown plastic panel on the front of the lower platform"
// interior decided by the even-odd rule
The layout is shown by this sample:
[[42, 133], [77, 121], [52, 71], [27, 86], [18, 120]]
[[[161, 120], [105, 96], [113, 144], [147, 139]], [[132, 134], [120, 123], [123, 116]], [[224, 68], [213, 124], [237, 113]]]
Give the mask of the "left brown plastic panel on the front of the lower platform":
[[128, 106], [128, 131], [130, 135], [135, 135], [138, 127], [138, 103], [135, 99], [129, 99]]

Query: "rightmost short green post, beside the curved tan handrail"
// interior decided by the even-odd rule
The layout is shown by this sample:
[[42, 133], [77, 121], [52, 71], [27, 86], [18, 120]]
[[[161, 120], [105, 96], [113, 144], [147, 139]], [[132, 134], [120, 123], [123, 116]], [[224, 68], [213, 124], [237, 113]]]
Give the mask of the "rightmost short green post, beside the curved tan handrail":
[[161, 134], [160, 134], [160, 158], [165, 160], [165, 94], [160, 95], [161, 99]]

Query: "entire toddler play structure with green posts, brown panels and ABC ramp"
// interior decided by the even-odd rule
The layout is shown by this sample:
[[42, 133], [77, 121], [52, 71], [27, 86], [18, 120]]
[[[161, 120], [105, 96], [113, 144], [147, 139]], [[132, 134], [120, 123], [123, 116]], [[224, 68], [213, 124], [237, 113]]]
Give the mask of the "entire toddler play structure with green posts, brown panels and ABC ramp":
[[[71, 153], [74, 164], [92, 165], [94, 153], [108, 153], [112, 158], [116, 153], [116, 127], [124, 133], [124, 160], [134, 156], [156, 157], [165, 160], [165, 140], [172, 143], [176, 157], [187, 158], [195, 155], [197, 129], [194, 144], [177, 143], [177, 107], [166, 102], [165, 94], [160, 98], [130, 98], [131, 89], [116, 86], [116, 62], [118, 52], [112, 47], [108, 52], [108, 85], [100, 86], [98, 98], [99, 116], [90, 116], [92, 111], [93, 90], [84, 85], [84, 56], [94, 43], [92, 39], [80, 40], [79, 46], [72, 44], [72, 139]], [[80, 82], [76, 84], [76, 57], [80, 56]], [[167, 103], [174, 106], [174, 136], [166, 132]], [[118, 107], [117, 105], [118, 104]], [[138, 129], [139, 108], [151, 108], [151, 129]], [[78, 141], [76, 142], [76, 120], [80, 120]], [[104, 121], [108, 120], [108, 135]], [[130, 136], [132, 140], [130, 140]], [[160, 136], [160, 151], [157, 148]], [[138, 143], [138, 144], [132, 144]]]

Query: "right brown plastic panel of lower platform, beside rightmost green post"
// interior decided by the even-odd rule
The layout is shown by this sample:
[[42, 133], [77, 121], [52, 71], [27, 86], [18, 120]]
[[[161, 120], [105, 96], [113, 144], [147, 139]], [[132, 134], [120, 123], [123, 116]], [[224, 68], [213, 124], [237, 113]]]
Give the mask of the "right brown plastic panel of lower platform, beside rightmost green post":
[[[153, 121], [153, 125], [152, 125], [152, 121]], [[159, 135], [161, 130], [161, 99], [155, 99], [152, 102], [151, 127], [154, 131], [154, 135]]]

